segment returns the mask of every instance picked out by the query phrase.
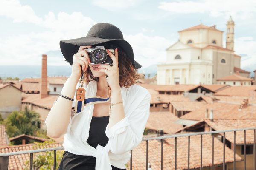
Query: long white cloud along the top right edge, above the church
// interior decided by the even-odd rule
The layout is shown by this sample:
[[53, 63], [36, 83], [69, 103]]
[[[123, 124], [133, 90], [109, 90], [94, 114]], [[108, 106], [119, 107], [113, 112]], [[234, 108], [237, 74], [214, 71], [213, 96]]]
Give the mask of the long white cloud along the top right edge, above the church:
[[186, 0], [175, 2], [160, 2], [159, 9], [172, 13], [191, 14], [209, 13], [211, 17], [228, 17], [247, 19], [256, 11], [255, 0]]

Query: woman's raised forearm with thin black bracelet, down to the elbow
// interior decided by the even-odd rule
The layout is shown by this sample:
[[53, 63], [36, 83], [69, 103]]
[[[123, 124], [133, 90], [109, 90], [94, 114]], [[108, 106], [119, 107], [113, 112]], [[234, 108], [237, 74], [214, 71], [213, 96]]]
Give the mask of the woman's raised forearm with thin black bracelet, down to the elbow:
[[[65, 82], [61, 94], [73, 99], [79, 78], [70, 76]], [[52, 106], [47, 116], [47, 134], [51, 137], [59, 137], [65, 133], [70, 122], [72, 101], [61, 96]]]

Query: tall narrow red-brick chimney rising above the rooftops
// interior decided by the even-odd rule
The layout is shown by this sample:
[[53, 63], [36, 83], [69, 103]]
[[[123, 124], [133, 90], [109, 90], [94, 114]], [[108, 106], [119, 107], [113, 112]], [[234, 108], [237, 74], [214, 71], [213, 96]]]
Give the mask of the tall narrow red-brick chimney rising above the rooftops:
[[41, 98], [47, 97], [47, 55], [42, 55], [42, 70], [41, 70], [41, 87], [40, 87], [40, 94]]

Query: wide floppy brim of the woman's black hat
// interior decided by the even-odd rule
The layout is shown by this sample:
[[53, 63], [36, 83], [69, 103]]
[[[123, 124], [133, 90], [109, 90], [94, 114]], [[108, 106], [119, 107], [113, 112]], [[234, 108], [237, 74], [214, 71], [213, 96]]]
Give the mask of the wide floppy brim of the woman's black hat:
[[76, 39], [70, 39], [70, 40], [61, 40], [60, 41], [60, 48], [61, 52], [64, 56], [64, 58], [67, 60], [67, 62], [72, 65], [73, 63], [73, 55], [77, 53], [80, 46], [86, 46], [86, 45], [97, 45], [104, 42], [118, 42], [118, 44], [124, 49], [124, 51], [127, 54], [127, 57], [131, 60], [132, 64], [135, 68], [141, 68], [142, 65], [140, 65], [137, 61], [134, 60], [134, 53], [132, 50], [131, 45], [122, 39], [104, 39], [100, 37], [81, 37]]

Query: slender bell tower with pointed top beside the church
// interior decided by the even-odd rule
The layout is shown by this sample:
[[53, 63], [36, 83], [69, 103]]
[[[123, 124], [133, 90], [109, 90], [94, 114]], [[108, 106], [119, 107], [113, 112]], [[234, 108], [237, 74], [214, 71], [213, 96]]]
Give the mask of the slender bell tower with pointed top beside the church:
[[227, 21], [227, 37], [226, 37], [226, 48], [234, 50], [234, 26], [235, 23], [230, 16], [230, 19]]

